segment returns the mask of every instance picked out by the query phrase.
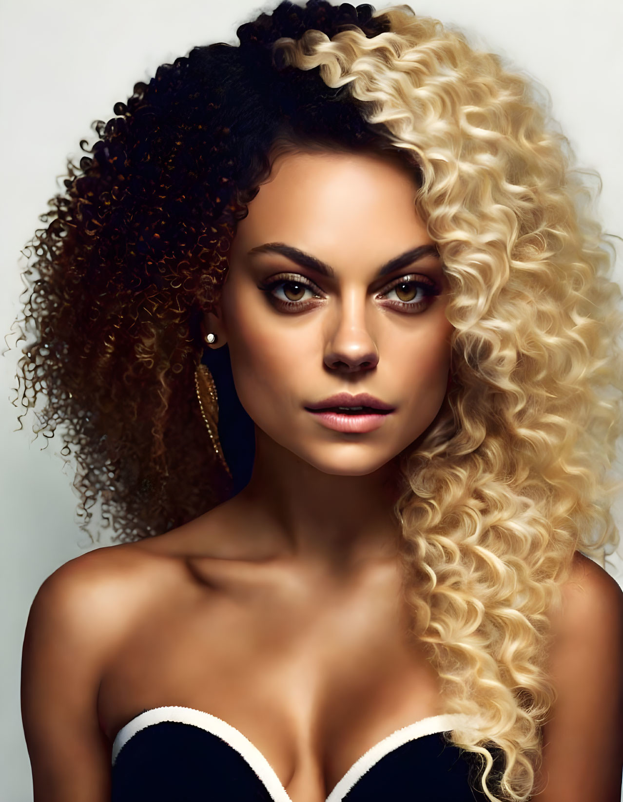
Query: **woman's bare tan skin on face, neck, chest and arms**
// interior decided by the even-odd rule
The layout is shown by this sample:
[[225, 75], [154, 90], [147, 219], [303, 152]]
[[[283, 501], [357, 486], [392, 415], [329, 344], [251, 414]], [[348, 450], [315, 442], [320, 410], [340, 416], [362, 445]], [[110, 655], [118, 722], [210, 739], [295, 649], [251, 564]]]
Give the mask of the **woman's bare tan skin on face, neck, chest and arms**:
[[[392, 504], [396, 456], [416, 446], [447, 391], [448, 287], [430, 254], [377, 275], [432, 244], [416, 192], [376, 156], [314, 152], [280, 158], [251, 201], [204, 321], [216, 347], [228, 343], [255, 421], [251, 481], [179, 529], [82, 554], [43, 582], [22, 657], [34, 802], [110, 800], [112, 743], [143, 709], [180, 705], [230, 723], [292, 802], [324, 802], [381, 739], [446, 712], [409, 634]], [[334, 276], [282, 253], [249, 255], [269, 242], [310, 253]], [[314, 282], [320, 297], [290, 286], [311, 303], [274, 306], [265, 286], [283, 273]], [[413, 273], [440, 289], [415, 313], [392, 306], [389, 291]], [[328, 430], [304, 407], [337, 391], [369, 392], [396, 411], [368, 434]], [[553, 618], [557, 701], [539, 802], [618, 799], [621, 598], [577, 553]]]

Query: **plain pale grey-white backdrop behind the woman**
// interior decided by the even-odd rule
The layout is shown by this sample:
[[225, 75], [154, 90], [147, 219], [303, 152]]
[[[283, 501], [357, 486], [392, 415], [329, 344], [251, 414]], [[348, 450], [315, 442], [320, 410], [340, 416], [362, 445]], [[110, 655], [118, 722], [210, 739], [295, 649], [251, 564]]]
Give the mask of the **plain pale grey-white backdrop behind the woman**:
[[[60, 189], [67, 156], [79, 160], [79, 141], [93, 143], [91, 121], [114, 116], [115, 102], [125, 101], [134, 83], [148, 81], [160, 63], [186, 55], [195, 45], [237, 43], [236, 27], [275, 5], [250, 0], [0, 0], [3, 338], [20, 308], [19, 274], [26, 265], [22, 249], [34, 229], [42, 227], [38, 215]], [[386, 6], [379, 2], [376, 7]], [[547, 88], [553, 118], [569, 137], [577, 163], [601, 174], [597, 213], [605, 229], [621, 237], [621, 0], [422, 0], [412, 8], [458, 26], [472, 43], [496, 51]], [[621, 282], [621, 248], [618, 253]], [[0, 800], [28, 802], [30, 764], [19, 706], [28, 610], [42, 581], [94, 544], [74, 514], [74, 472], [59, 453], [62, 441], [58, 436], [34, 439], [32, 418], [15, 431], [18, 410], [11, 399], [20, 354], [14, 339], [0, 346], [10, 346], [0, 358]], [[615, 511], [620, 526], [623, 507], [618, 502]], [[109, 542], [102, 533], [96, 545]], [[621, 566], [620, 553], [606, 563], [623, 585]]]

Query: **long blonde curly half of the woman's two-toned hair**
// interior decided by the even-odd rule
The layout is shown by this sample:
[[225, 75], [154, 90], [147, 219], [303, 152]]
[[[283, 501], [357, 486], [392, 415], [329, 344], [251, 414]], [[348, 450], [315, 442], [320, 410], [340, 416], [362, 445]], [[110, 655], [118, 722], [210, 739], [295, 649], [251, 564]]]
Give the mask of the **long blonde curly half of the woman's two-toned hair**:
[[372, 38], [307, 30], [275, 51], [348, 87], [424, 177], [416, 210], [451, 288], [453, 386], [401, 455], [405, 593], [448, 711], [478, 721], [452, 741], [481, 755], [488, 799], [487, 780], [526, 800], [556, 695], [549, 610], [576, 550], [603, 565], [618, 543], [621, 290], [535, 85], [408, 6], [375, 16], [388, 30]]

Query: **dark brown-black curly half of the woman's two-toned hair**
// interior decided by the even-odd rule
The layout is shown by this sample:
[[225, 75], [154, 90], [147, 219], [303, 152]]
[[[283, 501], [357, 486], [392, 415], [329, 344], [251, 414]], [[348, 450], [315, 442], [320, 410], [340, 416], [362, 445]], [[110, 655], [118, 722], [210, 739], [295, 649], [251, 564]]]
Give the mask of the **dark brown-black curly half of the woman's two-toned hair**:
[[[279, 63], [273, 43], [308, 29], [329, 37], [386, 30], [369, 5], [281, 2], [239, 26], [239, 46], [195, 47], [136, 83], [98, 140], [67, 163], [66, 191], [26, 244], [35, 255], [17, 325], [18, 399], [45, 437], [62, 426], [78, 470], [82, 529], [101, 502], [113, 539], [183, 525], [246, 484], [253, 426], [235, 395], [227, 346], [204, 350], [203, 313], [227, 271], [236, 222], [270, 172], [275, 144], [384, 152], [416, 165], [319, 69]], [[14, 323], [14, 326], [16, 324]], [[219, 434], [233, 481], [215, 460], [195, 396], [203, 360], [219, 387]], [[18, 415], [21, 419], [26, 412]], [[96, 538], [97, 539], [97, 538]]]

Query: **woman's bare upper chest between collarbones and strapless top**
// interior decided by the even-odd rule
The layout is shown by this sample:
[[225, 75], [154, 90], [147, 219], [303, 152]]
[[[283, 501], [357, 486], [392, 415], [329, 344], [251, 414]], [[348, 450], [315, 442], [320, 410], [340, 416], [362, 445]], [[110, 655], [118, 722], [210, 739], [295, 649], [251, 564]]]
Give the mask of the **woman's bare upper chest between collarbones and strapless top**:
[[111, 743], [142, 711], [184, 708], [241, 735], [291, 802], [324, 802], [371, 747], [444, 712], [388, 577], [340, 597], [296, 581], [195, 590], [155, 601], [103, 675]]

